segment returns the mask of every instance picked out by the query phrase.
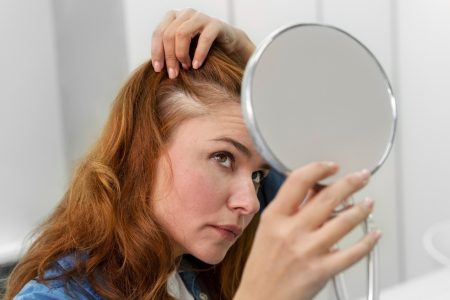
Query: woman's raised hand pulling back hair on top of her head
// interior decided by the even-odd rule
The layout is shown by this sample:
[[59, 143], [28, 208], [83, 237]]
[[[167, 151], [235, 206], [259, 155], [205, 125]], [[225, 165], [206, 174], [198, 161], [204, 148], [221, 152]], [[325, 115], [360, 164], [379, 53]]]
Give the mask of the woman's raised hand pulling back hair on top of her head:
[[[191, 61], [189, 46], [199, 36]], [[193, 9], [169, 11], [152, 37], [152, 65], [160, 72], [166, 65], [169, 77], [176, 78], [180, 63], [184, 69], [198, 69], [204, 62], [212, 43], [220, 43], [228, 53], [237, 53], [248, 60], [254, 44], [240, 29], [211, 18]]]

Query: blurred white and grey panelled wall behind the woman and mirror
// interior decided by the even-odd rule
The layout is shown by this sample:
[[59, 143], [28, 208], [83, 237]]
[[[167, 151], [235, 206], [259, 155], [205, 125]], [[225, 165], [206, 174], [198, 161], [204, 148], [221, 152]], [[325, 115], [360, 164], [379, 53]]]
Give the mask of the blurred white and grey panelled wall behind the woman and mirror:
[[[445, 0], [0, 2], [0, 264], [19, 255], [24, 236], [61, 198], [121, 83], [149, 58], [154, 27], [169, 9], [187, 5], [243, 28], [256, 44], [279, 26], [321, 22], [373, 51], [400, 116], [392, 155], [361, 193], [377, 200], [381, 285], [437, 268], [421, 238], [450, 217]], [[362, 274], [362, 265], [346, 272], [355, 297], [364, 292]]]

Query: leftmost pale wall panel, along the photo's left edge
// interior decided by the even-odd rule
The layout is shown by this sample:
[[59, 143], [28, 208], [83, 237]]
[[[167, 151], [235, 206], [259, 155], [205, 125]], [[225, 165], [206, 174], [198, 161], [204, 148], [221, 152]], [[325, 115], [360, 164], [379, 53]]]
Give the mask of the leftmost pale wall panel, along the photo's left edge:
[[0, 264], [62, 196], [66, 161], [50, 1], [0, 1]]

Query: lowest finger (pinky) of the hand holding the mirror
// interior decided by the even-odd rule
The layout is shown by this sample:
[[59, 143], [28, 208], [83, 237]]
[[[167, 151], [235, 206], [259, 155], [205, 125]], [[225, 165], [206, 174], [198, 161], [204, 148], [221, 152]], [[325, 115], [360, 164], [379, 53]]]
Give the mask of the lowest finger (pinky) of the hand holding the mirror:
[[369, 254], [380, 237], [380, 231], [369, 232], [358, 243], [347, 249], [338, 250], [323, 257], [323, 266], [326, 266], [333, 275], [344, 271]]

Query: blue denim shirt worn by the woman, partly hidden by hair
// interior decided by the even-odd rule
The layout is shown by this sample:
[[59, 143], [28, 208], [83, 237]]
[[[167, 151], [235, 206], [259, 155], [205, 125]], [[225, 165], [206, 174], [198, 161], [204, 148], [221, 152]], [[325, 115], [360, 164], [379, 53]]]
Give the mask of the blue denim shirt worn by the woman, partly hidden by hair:
[[[284, 177], [273, 170], [264, 180], [261, 189], [258, 192], [258, 198], [263, 210], [270, 201], [275, 197]], [[63, 272], [70, 271], [75, 266], [75, 258], [73, 256], [65, 256], [59, 259], [52, 269], [44, 274], [44, 278], [52, 278], [61, 275]], [[205, 294], [200, 290], [200, 284], [197, 280], [197, 274], [190, 271], [181, 271], [179, 275], [195, 300], [204, 300]], [[69, 278], [67, 282], [63, 280], [49, 280], [47, 284], [43, 284], [37, 280], [30, 280], [22, 290], [14, 297], [16, 300], [36, 299], [80, 299], [80, 300], [100, 300], [103, 299], [92, 288], [87, 279]]]

